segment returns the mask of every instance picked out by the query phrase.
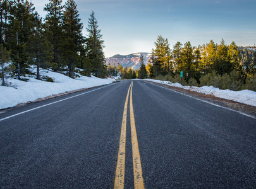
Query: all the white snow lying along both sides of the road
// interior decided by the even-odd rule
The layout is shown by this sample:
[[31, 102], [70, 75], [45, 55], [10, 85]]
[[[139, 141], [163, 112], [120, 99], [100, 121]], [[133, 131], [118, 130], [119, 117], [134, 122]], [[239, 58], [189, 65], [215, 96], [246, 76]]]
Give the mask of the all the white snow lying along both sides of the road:
[[[32, 70], [35, 72], [35, 68]], [[110, 84], [116, 81], [116, 79], [99, 79], [97, 77], [77, 77], [71, 79], [64, 74], [57, 72], [40, 69], [42, 76], [52, 77], [54, 83], [40, 81], [34, 77], [27, 77], [28, 82], [19, 81], [18, 79], [8, 79], [8, 83], [11, 83], [13, 87], [0, 86], [0, 109], [10, 108], [20, 103], [27, 103], [28, 101], [35, 101], [39, 98], [45, 98], [47, 96], [58, 95], [67, 91], [75, 91], [77, 89], [92, 88], [94, 86], [101, 86], [104, 84]], [[167, 84], [178, 88], [184, 88], [198, 93], [204, 93], [206, 95], [214, 95], [219, 98], [227, 100], [238, 101], [247, 105], [256, 106], [256, 92], [254, 91], [230, 91], [221, 90], [212, 86], [203, 87], [191, 87], [181, 86], [179, 83], [170, 83], [169, 81], [159, 81], [154, 79], [145, 79], [146, 81], [153, 81], [155, 83]]]

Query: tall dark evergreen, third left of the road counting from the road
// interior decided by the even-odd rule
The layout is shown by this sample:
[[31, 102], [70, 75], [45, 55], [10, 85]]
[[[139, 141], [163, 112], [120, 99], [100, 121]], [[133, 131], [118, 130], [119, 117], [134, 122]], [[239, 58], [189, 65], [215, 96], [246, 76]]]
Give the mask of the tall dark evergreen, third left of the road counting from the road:
[[53, 59], [51, 66], [56, 71], [59, 71], [64, 65], [61, 64], [61, 47], [63, 47], [63, 6], [62, 0], [49, 0], [44, 11], [47, 11], [45, 18], [45, 29], [47, 30], [47, 39], [53, 47]]

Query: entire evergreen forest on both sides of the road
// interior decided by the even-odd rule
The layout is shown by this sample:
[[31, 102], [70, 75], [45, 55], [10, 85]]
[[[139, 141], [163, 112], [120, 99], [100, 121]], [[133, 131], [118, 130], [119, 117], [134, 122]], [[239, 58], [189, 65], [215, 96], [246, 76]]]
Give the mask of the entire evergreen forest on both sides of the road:
[[49, 0], [45, 18], [35, 11], [32, 1], [1, 0], [0, 78], [27, 81], [30, 66], [37, 66], [35, 77], [44, 81], [40, 68], [61, 72], [70, 77], [120, 76], [121, 79], [152, 78], [181, 82], [190, 86], [214, 86], [220, 89], [250, 89], [256, 91], [255, 47], [238, 47], [209, 43], [192, 47], [190, 42], [176, 42], [170, 47], [167, 38], [159, 35], [154, 42], [149, 62], [140, 57], [140, 69], [106, 65], [104, 40], [92, 11], [88, 18], [87, 37], [74, 0], [62, 5], [62, 0]]

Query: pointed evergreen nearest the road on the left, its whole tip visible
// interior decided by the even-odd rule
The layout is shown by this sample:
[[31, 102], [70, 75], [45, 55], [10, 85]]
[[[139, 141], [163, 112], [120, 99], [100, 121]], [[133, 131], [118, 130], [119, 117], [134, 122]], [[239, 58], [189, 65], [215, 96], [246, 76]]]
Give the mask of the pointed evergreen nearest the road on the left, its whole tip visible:
[[104, 77], [107, 72], [103, 52], [104, 40], [102, 40], [101, 30], [99, 30], [98, 27], [94, 11], [92, 11], [87, 26], [87, 47], [89, 49], [88, 58], [92, 64], [92, 72], [94, 72], [97, 77]]

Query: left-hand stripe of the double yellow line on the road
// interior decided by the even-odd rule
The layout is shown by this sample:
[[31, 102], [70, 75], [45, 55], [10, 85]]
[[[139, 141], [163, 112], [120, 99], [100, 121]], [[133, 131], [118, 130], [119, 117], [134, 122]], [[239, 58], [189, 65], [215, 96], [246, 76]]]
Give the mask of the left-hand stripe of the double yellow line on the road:
[[125, 142], [126, 142], [126, 117], [127, 117], [127, 107], [128, 107], [128, 98], [131, 85], [128, 89], [125, 108], [123, 110], [123, 121], [121, 127], [121, 135], [119, 142], [119, 151], [118, 151], [118, 164], [116, 166], [116, 178], [114, 180], [114, 188], [124, 188], [125, 187]]

